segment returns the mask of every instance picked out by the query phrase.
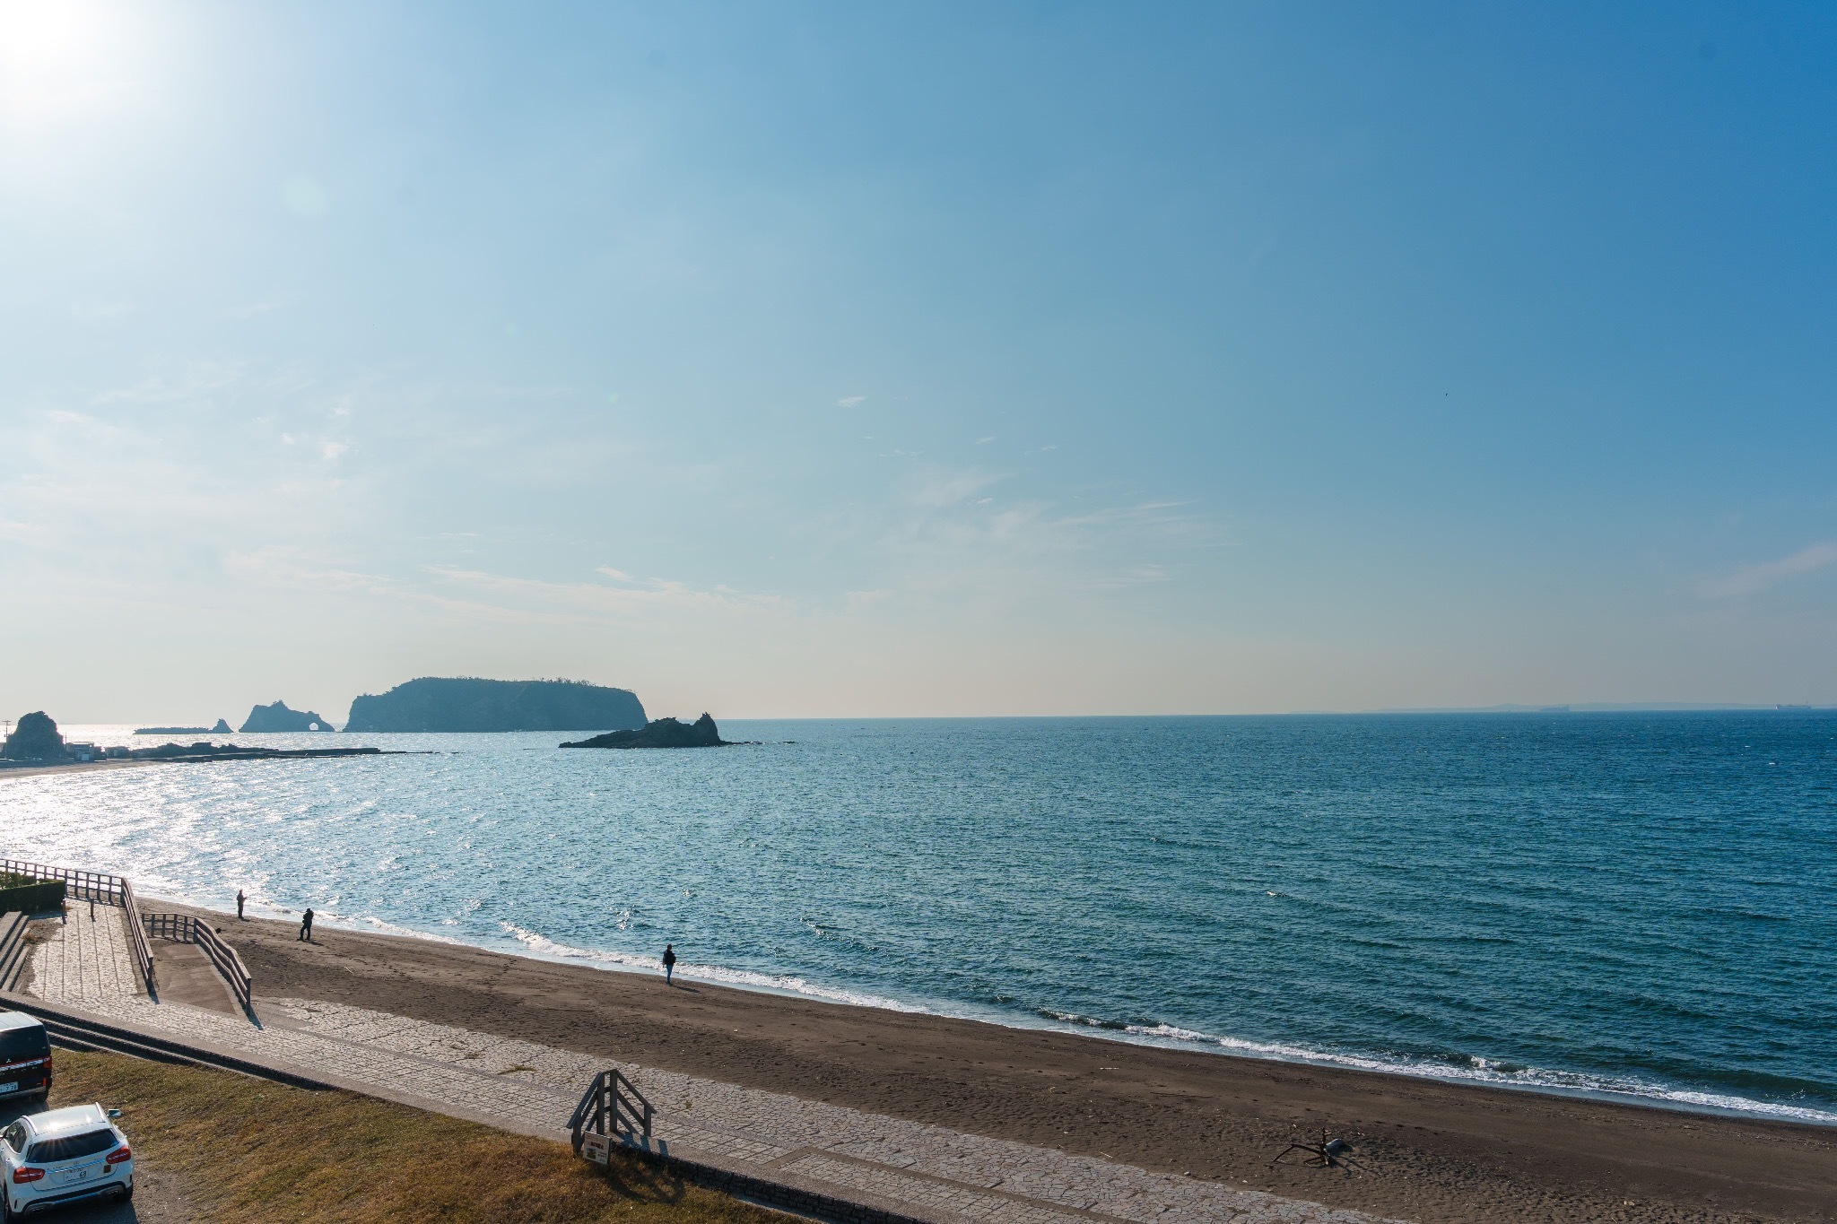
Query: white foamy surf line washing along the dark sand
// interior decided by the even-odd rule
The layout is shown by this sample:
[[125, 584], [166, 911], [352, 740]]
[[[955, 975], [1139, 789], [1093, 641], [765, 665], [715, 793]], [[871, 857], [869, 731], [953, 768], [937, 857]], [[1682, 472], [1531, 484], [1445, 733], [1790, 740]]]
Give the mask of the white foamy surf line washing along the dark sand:
[[[219, 918], [231, 918], [231, 910], [217, 910], [211, 907], [197, 905], [193, 901], [178, 897], [160, 897], [149, 896], [149, 901], [162, 901], [167, 905], [178, 905], [200, 914], [217, 914]], [[277, 910], [287, 914], [287, 910]], [[287, 923], [288, 918], [272, 918], [265, 914], [254, 914], [254, 918], [266, 921]], [[298, 912], [292, 918], [298, 921]], [[489, 956], [513, 956], [540, 962], [546, 965], [560, 965], [573, 969], [588, 969], [595, 973], [619, 973], [636, 976], [654, 976], [661, 974], [663, 967], [656, 958], [632, 956], [626, 952], [597, 952], [592, 949], [571, 949], [568, 945], [555, 943], [546, 936], [536, 936], [535, 932], [513, 930], [502, 940], [470, 941], [454, 936], [441, 936], [424, 930], [413, 930], [384, 919], [351, 919], [351, 918], [325, 918], [316, 919], [316, 930], [344, 930], [356, 936], [378, 936], [395, 940], [415, 940], [432, 943], [437, 947], [468, 949]], [[549, 952], [533, 947], [525, 936], [549, 943], [551, 947], [564, 949], [558, 952]], [[1280, 1066], [1306, 1066], [1319, 1068], [1324, 1072], [1352, 1072], [1363, 1075], [1394, 1075], [1398, 1079], [1420, 1079], [1437, 1085], [1448, 1085], [1455, 1088], [1479, 1088], [1479, 1090], [1497, 1090], [1506, 1094], [1532, 1094], [1558, 1097], [1565, 1101], [1593, 1101], [1600, 1105], [1620, 1105], [1628, 1108], [1651, 1108], [1674, 1114], [1685, 1114], [1694, 1118], [1730, 1118], [1730, 1119], [1751, 1119], [1765, 1123], [1786, 1123], [1800, 1127], [1819, 1127], [1837, 1130], [1837, 1112], [1797, 1107], [1797, 1105], [1773, 1105], [1767, 1101], [1751, 1101], [1747, 1097], [1725, 1097], [1730, 1101], [1741, 1101], [1740, 1105], [1719, 1105], [1712, 1101], [1692, 1101], [1683, 1096], [1661, 1096], [1666, 1090], [1662, 1085], [1653, 1085], [1651, 1092], [1637, 1090], [1615, 1090], [1615, 1088], [1596, 1088], [1587, 1085], [1560, 1085], [1560, 1083], [1539, 1083], [1512, 1079], [1506, 1075], [1484, 1075], [1484, 1074], [1460, 1074], [1459, 1070], [1440, 1070], [1431, 1063], [1403, 1063], [1387, 1061], [1376, 1055], [1335, 1055], [1319, 1053], [1310, 1050], [1291, 1050], [1275, 1048], [1271, 1042], [1253, 1042], [1247, 1039], [1216, 1037], [1211, 1033], [1200, 1033], [1192, 1039], [1176, 1035], [1159, 1035], [1152, 1031], [1135, 1031], [1133, 1028], [1110, 1028], [1091, 1022], [1076, 1022], [1069, 1018], [1040, 1017], [1036, 1022], [1029, 1020], [1025, 1015], [999, 1015], [996, 1011], [972, 1013], [970, 1009], [952, 1011], [944, 1007], [911, 1004], [896, 998], [884, 998], [878, 995], [856, 993], [843, 987], [823, 989], [819, 985], [808, 985], [806, 989], [797, 989], [794, 985], [777, 985], [773, 974], [751, 969], [724, 969], [720, 965], [693, 965], [683, 962], [676, 967], [678, 980], [698, 982], [722, 991], [738, 991], [748, 995], [770, 995], [777, 998], [795, 998], [810, 1004], [828, 1006], [828, 1007], [862, 1007], [867, 1011], [885, 1011], [889, 1015], [922, 1015], [935, 1017], [941, 1020], [955, 1020], [963, 1024], [988, 1024], [992, 1028], [1012, 1029], [1016, 1033], [1058, 1033], [1080, 1040], [1099, 1040], [1108, 1044], [1135, 1046], [1146, 1050], [1168, 1050], [1179, 1053], [1196, 1053], [1203, 1057], [1223, 1057], [1223, 1059], [1245, 1059], [1257, 1063], [1275, 1063]], [[755, 980], [744, 980], [755, 978]], [[1545, 1075], [1569, 1074], [1582, 1079], [1580, 1072], [1550, 1072], [1538, 1068]], [[1675, 1092], [1696, 1092], [1677, 1088]], [[1707, 1090], [1701, 1096], [1718, 1096]]]

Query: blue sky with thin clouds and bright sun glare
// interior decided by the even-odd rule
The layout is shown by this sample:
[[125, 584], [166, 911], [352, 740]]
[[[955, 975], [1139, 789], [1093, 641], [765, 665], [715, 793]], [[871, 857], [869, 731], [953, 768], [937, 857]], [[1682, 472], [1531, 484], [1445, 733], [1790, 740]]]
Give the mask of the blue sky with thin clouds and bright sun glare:
[[0, 703], [1837, 701], [1833, 83], [1809, 4], [0, 0]]

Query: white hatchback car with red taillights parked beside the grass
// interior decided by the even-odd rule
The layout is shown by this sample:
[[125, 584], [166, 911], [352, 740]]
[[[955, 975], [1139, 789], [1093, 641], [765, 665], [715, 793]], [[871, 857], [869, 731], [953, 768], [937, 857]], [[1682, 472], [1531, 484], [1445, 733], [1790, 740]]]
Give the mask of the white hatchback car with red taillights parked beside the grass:
[[0, 1130], [0, 1220], [99, 1195], [134, 1196], [134, 1151], [101, 1105], [26, 1114]]

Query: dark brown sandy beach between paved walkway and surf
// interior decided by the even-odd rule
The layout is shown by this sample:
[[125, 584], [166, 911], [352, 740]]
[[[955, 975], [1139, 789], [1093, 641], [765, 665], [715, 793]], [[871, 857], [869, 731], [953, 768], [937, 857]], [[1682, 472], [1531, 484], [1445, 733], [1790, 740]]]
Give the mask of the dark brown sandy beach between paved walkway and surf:
[[[1315, 1068], [217, 916], [257, 996], [525, 1037], [1422, 1224], [1837, 1220], [1837, 1129]], [[1269, 1167], [1321, 1129], [1359, 1171]]]

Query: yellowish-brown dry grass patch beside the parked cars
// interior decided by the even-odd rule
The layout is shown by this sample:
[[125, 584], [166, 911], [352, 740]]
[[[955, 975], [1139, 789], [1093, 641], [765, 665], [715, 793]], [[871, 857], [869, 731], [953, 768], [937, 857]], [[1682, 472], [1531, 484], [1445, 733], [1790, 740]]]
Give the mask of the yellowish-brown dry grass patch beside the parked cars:
[[355, 1092], [57, 1052], [53, 1105], [121, 1110], [136, 1163], [175, 1174], [200, 1218], [783, 1224], [625, 1152], [603, 1173], [566, 1143]]

